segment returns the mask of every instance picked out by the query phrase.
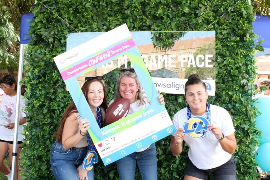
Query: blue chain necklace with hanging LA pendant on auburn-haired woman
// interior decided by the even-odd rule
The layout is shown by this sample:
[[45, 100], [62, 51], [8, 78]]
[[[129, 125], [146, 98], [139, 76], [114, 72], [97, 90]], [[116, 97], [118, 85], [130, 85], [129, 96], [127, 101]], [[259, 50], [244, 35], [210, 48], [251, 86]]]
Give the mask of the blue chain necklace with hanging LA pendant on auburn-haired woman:
[[[101, 115], [100, 115], [100, 108], [97, 107], [96, 109], [97, 112], [97, 124], [99, 125], [99, 127], [101, 127]], [[88, 144], [88, 150], [89, 152], [87, 153], [85, 159], [83, 160], [83, 164], [82, 164], [82, 169], [86, 169], [88, 171], [90, 171], [93, 168], [93, 165], [95, 163], [97, 163], [97, 153], [95, 152], [95, 145], [92, 146], [92, 140], [91, 137], [87, 131], [86, 134], [87, 137], [87, 144]]]

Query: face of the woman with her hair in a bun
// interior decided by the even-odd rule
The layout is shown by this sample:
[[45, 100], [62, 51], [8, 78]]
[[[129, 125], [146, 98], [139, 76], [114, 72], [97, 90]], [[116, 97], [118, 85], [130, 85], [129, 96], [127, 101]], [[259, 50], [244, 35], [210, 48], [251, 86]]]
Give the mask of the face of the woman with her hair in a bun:
[[185, 98], [190, 106], [191, 113], [195, 115], [203, 115], [206, 112], [206, 101], [208, 93], [201, 84], [193, 84], [187, 87]]

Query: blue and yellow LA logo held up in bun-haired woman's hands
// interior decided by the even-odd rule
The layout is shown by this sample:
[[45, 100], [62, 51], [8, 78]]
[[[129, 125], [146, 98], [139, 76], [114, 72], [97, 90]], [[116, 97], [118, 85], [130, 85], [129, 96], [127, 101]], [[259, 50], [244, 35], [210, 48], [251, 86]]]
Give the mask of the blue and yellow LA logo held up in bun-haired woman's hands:
[[210, 131], [207, 130], [208, 124], [210, 124], [210, 122], [204, 116], [193, 116], [184, 123], [184, 133], [189, 134], [191, 137], [194, 138], [204, 137], [205, 132]]

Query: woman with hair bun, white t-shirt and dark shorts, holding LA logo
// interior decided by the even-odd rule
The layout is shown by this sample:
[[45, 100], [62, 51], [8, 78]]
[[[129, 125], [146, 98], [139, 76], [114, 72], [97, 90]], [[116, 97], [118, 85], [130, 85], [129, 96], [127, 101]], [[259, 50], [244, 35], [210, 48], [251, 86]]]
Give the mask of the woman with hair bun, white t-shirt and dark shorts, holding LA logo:
[[[188, 106], [173, 117], [176, 133], [172, 134], [170, 148], [174, 155], [182, 152], [183, 141], [189, 147], [184, 180], [207, 179], [212, 173], [214, 180], [236, 179], [236, 166], [232, 154], [235, 152], [235, 129], [227, 110], [210, 105], [205, 83], [198, 75], [191, 75], [185, 83], [185, 98]], [[210, 124], [205, 131], [184, 134], [184, 123], [193, 116], [204, 116]], [[194, 123], [194, 122], [193, 122]], [[193, 129], [204, 124], [195, 122]]]

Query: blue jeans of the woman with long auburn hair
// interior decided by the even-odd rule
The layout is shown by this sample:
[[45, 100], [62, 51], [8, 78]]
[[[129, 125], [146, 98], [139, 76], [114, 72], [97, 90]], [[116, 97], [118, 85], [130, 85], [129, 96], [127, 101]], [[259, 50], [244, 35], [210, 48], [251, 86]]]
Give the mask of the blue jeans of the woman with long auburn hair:
[[[79, 179], [77, 168], [82, 165], [87, 151], [87, 147], [65, 150], [61, 143], [55, 141], [50, 153], [50, 164], [56, 180]], [[88, 171], [87, 177], [88, 180], [94, 179], [94, 168]]]

